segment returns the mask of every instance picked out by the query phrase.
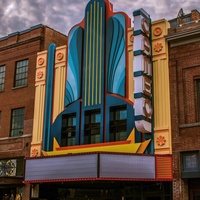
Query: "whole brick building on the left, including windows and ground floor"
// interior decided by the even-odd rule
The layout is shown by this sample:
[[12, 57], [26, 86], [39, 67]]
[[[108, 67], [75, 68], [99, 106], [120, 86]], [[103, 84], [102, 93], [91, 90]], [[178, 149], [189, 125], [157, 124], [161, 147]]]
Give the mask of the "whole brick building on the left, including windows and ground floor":
[[37, 52], [66, 42], [41, 24], [0, 38], [0, 199], [22, 193], [28, 199], [23, 170], [32, 141]]

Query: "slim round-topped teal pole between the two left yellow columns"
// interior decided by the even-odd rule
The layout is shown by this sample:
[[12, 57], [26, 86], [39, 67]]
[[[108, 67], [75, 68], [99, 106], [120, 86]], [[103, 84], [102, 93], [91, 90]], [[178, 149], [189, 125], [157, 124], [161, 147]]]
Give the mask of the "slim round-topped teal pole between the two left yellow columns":
[[49, 45], [45, 108], [44, 108], [44, 131], [43, 131], [44, 133], [43, 133], [43, 144], [42, 144], [42, 149], [44, 151], [50, 151], [55, 49], [56, 49], [55, 44]]

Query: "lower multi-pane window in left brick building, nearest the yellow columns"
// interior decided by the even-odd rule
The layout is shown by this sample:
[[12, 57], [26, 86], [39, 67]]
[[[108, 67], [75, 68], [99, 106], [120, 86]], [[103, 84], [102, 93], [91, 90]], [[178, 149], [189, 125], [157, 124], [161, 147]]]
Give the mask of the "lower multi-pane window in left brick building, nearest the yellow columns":
[[[14, 112], [23, 110], [23, 114], [15, 114]], [[21, 116], [21, 118], [19, 118]], [[14, 119], [17, 119], [16, 121]], [[14, 108], [11, 110], [11, 125], [10, 125], [10, 137], [20, 137], [24, 133], [24, 119], [25, 119], [25, 108]], [[16, 123], [16, 124], [14, 124]], [[16, 127], [16, 128], [15, 128]], [[19, 131], [19, 134], [15, 134], [15, 131]]]

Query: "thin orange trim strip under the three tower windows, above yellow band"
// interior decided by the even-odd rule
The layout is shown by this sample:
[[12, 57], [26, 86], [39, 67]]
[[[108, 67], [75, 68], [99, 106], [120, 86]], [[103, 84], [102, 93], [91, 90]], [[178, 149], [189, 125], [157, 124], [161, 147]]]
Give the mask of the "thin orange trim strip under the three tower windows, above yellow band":
[[119, 145], [119, 144], [130, 144], [130, 142], [131, 140], [117, 141], [117, 142], [104, 142], [104, 143], [96, 143], [96, 144], [83, 144], [83, 145], [76, 145], [76, 146], [59, 147], [59, 148], [56, 148], [56, 150], [69, 150], [69, 149], [80, 149], [80, 148], [110, 146], [110, 145]]

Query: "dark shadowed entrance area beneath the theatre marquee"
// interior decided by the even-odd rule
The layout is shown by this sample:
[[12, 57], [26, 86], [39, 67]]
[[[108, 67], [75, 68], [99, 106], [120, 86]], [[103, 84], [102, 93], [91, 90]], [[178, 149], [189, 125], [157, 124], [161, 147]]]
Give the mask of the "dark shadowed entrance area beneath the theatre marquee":
[[39, 198], [31, 199], [171, 200], [171, 186], [171, 182], [140, 181], [42, 183], [39, 185]]

